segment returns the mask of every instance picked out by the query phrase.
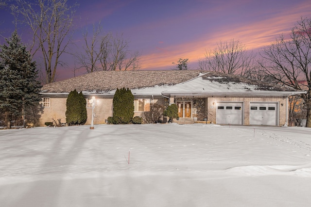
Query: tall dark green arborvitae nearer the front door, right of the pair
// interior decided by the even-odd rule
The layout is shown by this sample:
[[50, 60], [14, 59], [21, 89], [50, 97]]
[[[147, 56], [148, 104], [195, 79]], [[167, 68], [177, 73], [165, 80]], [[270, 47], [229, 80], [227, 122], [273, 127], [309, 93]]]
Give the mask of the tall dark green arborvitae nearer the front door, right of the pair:
[[128, 124], [134, 116], [134, 96], [130, 89], [117, 89], [113, 96], [113, 116], [120, 117], [120, 124]]

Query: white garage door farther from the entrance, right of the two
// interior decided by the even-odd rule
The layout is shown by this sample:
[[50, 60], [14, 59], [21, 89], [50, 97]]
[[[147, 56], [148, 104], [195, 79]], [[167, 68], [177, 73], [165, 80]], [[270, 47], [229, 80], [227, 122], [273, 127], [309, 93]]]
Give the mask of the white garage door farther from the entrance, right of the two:
[[278, 103], [250, 103], [250, 125], [277, 125]]

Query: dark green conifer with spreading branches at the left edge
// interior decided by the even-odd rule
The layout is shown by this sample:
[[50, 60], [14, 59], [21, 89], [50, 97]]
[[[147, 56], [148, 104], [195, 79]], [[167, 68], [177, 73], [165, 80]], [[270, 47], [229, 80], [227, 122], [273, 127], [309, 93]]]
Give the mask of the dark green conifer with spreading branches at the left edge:
[[7, 127], [39, 103], [40, 82], [36, 78], [35, 62], [15, 31], [0, 45], [0, 113], [5, 115]]

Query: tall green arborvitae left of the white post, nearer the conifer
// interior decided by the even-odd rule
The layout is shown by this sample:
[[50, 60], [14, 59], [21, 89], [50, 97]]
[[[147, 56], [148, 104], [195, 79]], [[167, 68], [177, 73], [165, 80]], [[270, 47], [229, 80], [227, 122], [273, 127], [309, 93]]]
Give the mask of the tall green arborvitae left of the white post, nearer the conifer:
[[78, 94], [76, 90], [71, 91], [67, 97], [66, 107], [66, 122], [69, 126], [86, 123], [86, 99], [82, 92]]

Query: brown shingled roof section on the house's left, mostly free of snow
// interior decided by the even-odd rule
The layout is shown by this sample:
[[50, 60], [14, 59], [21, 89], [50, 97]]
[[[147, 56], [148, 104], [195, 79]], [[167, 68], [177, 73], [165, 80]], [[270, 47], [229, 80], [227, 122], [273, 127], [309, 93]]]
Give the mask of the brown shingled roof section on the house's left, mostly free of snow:
[[[161, 71], [99, 71], [44, 85], [42, 93], [77, 91], [103, 93], [117, 88], [137, 89], [161, 85], [175, 85], [200, 75], [199, 70]], [[206, 71], [205, 71], [206, 72]]]

